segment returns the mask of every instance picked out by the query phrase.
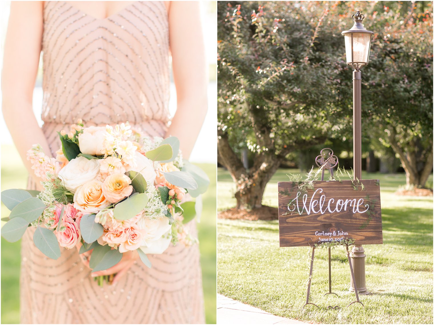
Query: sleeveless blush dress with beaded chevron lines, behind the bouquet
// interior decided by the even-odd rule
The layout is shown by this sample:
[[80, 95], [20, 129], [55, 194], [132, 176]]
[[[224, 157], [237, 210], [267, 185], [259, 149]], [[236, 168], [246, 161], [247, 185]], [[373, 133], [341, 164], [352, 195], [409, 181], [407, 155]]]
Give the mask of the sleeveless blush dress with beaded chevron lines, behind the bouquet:
[[[66, 2], [46, 1], [43, 26], [43, 132], [52, 153], [56, 131], [129, 121], [164, 136], [169, 121], [168, 14], [164, 2], [135, 2], [105, 19]], [[30, 179], [29, 188], [35, 183]], [[195, 222], [187, 224], [196, 236]], [[59, 259], [22, 240], [21, 323], [204, 323], [199, 248], [169, 246], [101, 288], [76, 249]]]

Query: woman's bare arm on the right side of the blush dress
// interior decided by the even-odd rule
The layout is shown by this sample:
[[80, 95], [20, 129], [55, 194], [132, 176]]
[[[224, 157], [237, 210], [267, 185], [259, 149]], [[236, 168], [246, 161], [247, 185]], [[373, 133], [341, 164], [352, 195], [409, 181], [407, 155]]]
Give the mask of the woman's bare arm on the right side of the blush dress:
[[207, 113], [207, 65], [197, 1], [171, 1], [169, 37], [177, 110], [167, 135], [180, 139], [188, 159]]

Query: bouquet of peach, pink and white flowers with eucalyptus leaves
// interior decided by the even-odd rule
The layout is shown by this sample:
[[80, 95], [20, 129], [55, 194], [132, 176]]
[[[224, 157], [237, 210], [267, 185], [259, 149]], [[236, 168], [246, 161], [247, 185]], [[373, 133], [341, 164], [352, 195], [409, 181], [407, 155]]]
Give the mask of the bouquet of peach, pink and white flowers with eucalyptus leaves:
[[151, 267], [146, 254], [161, 254], [170, 243], [197, 242], [184, 223], [199, 217], [209, 179], [182, 159], [178, 138], [144, 136], [128, 123], [83, 126], [79, 120], [69, 133], [59, 132], [56, 158], [39, 145], [28, 151], [43, 190], [1, 193], [11, 210], [2, 236], [15, 242], [29, 225], [36, 227], [33, 241], [52, 259], [60, 257], [59, 246], [81, 245], [80, 254], [93, 249], [94, 272], [133, 250]]

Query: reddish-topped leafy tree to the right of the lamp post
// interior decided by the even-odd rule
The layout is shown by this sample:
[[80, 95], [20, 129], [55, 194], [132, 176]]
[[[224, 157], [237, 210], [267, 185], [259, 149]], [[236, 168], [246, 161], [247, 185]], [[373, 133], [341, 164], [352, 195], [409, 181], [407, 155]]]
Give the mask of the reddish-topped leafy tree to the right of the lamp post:
[[432, 2], [381, 4], [366, 26], [378, 34], [364, 71], [365, 123], [381, 130], [379, 140], [399, 157], [407, 184], [424, 187], [433, 167]]

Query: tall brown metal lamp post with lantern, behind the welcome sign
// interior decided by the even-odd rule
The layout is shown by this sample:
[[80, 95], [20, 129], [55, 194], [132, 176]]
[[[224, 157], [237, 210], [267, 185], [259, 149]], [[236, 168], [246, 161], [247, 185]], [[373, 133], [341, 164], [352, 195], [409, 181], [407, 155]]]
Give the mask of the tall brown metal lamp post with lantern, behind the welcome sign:
[[[347, 65], [352, 66], [353, 71], [353, 169], [354, 179], [362, 179], [362, 72], [360, 68], [366, 66], [369, 60], [371, 48], [371, 37], [374, 32], [366, 30], [362, 25], [364, 15], [357, 11], [352, 15], [354, 26], [345, 30], [342, 35], [345, 37], [345, 52]], [[354, 277], [357, 291], [360, 294], [369, 294], [365, 281], [365, 250], [361, 245], [352, 249], [352, 260], [354, 266]], [[350, 282], [351, 292], [354, 292], [354, 284]]]

